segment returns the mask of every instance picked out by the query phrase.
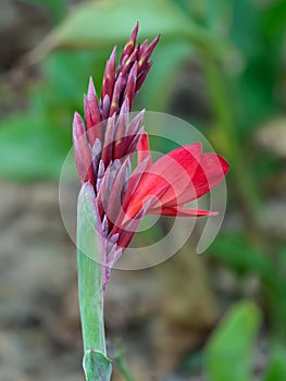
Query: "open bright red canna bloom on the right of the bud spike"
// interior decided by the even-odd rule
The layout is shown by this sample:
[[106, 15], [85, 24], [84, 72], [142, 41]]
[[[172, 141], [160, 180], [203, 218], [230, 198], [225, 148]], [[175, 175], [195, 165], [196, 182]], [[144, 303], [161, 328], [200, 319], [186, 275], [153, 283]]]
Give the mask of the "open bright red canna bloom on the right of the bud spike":
[[[146, 133], [141, 135], [137, 150], [138, 167], [129, 179], [117, 224], [124, 226], [124, 221], [134, 219], [141, 210], [145, 214], [173, 217], [217, 214], [215, 211], [183, 207], [209, 193], [224, 179], [228, 163], [221, 156], [203, 153], [201, 144], [195, 143], [177, 148], [152, 163]], [[116, 225], [113, 232], [119, 231]], [[119, 241], [123, 247], [129, 243], [125, 236], [126, 233], [121, 234]]]

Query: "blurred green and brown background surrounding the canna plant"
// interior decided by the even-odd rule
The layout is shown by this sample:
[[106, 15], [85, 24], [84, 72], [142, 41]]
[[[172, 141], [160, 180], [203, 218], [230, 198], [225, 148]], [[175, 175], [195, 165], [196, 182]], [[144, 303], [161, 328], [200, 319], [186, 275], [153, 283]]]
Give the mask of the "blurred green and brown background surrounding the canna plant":
[[[88, 77], [99, 93], [112, 47], [137, 20], [139, 41], [162, 37], [134, 109], [190, 122], [232, 170], [207, 253], [190, 239], [156, 268], [113, 272], [112, 380], [126, 379], [124, 356], [136, 381], [286, 380], [286, 1], [0, 5], [0, 380], [84, 379], [58, 182]], [[74, 223], [76, 192], [65, 195]]]

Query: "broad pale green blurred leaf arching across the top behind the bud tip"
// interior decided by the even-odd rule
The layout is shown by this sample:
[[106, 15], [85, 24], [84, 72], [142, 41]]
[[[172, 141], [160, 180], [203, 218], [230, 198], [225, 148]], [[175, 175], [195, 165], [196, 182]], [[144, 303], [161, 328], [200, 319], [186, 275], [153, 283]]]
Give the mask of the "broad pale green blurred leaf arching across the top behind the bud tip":
[[75, 8], [34, 50], [30, 59], [39, 60], [54, 48], [94, 49], [124, 44], [137, 21], [146, 38], [162, 34], [164, 40], [186, 39], [217, 56], [217, 38], [170, 0], [101, 0]]

